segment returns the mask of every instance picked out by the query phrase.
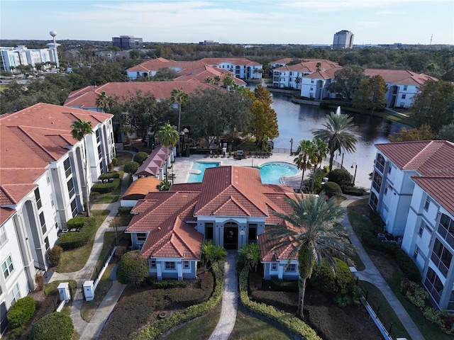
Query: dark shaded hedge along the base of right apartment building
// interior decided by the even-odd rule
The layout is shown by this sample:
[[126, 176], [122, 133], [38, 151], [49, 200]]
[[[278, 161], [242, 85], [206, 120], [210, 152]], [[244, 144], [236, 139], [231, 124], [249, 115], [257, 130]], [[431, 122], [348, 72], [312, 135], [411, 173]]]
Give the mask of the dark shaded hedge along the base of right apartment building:
[[377, 235], [374, 232], [367, 231], [362, 232], [361, 240], [364, 244], [377, 251], [382, 251], [388, 254], [396, 260], [397, 266], [399, 266], [404, 276], [411, 281], [421, 281], [421, 273], [416, 263], [406, 254], [406, 252], [395, 243], [392, 242], [381, 242], [377, 239]]

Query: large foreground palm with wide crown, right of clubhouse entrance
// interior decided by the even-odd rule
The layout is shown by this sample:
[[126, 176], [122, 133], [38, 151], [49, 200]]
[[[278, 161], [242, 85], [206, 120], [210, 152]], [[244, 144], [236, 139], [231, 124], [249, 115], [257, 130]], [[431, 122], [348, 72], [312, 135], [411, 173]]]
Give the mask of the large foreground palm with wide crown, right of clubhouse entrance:
[[[267, 244], [270, 251], [287, 248], [293, 245], [289, 252], [289, 261], [297, 256], [299, 271], [299, 317], [303, 317], [304, 293], [306, 280], [311, 278], [315, 266], [320, 266], [322, 260], [334, 271], [334, 257], [351, 263], [350, 257], [355, 254], [355, 248], [348, 242], [348, 231], [336, 221], [345, 215], [345, 209], [336, 205], [336, 198], [325, 200], [322, 192], [319, 197], [304, 198], [295, 195], [294, 200], [287, 202], [292, 212], [285, 214], [275, 212], [282, 218], [282, 224], [267, 226]], [[287, 223], [285, 225], [284, 223]]]

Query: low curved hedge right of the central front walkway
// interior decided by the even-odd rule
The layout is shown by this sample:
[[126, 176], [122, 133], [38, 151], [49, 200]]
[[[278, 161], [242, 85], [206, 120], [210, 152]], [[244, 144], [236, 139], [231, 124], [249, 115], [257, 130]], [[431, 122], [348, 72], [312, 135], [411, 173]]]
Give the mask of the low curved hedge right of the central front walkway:
[[297, 334], [297, 336], [301, 336], [303, 339], [322, 340], [314, 329], [311, 329], [311, 327], [301, 321], [301, 319], [294, 317], [294, 315], [275, 310], [275, 307], [265, 305], [265, 303], [251, 301], [248, 296], [248, 274], [249, 268], [244, 268], [240, 271], [240, 299], [246, 308], [279, 322], [279, 324], [282, 324], [282, 326], [289, 329], [292, 333]]

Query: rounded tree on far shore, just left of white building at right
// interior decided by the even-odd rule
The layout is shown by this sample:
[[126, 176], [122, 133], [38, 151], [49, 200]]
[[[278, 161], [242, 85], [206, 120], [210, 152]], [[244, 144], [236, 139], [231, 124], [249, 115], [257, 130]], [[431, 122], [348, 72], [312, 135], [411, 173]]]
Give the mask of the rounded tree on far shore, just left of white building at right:
[[387, 84], [378, 74], [364, 79], [353, 94], [353, 107], [360, 108], [362, 111], [370, 110], [370, 114], [375, 110], [383, 110], [386, 107], [384, 94], [387, 90]]

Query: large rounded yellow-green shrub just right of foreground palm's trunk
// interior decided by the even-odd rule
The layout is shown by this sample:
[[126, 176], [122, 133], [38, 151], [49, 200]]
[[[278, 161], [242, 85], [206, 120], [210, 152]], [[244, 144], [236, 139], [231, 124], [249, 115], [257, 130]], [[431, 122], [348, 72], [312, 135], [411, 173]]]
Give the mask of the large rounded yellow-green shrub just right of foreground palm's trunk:
[[315, 267], [312, 273], [310, 282], [315, 288], [322, 292], [345, 295], [352, 291], [355, 285], [355, 278], [348, 268], [348, 264], [341, 259], [334, 259], [337, 264], [337, 268], [332, 269], [323, 260], [321, 266]]

